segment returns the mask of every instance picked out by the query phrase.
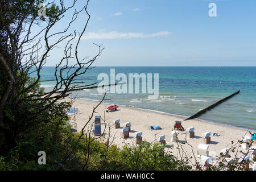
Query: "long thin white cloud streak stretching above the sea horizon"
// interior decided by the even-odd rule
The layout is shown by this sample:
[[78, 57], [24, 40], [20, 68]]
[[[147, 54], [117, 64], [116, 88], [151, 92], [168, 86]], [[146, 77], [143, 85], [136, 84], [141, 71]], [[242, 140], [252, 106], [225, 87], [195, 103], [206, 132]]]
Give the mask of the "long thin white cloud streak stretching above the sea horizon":
[[129, 38], [154, 38], [157, 36], [168, 36], [171, 32], [168, 31], [160, 31], [153, 34], [142, 34], [138, 32], [103, 32], [103, 33], [95, 33], [95, 32], [88, 32], [84, 36], [82, 36], [82, 39], [129, 39]]

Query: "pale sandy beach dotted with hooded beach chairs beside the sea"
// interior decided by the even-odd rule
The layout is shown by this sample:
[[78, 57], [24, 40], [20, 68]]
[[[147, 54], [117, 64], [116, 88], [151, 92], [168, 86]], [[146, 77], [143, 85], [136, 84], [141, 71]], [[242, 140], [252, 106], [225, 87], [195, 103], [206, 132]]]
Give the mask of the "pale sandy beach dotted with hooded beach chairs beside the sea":
[[[70, 98], [67, 99], [70, 101]], [[85, 123], [88, 121], [90, 115], [92, 115], [93, 107], [95, 107], [97, 102], [88, 102], [84, 100], [75, 100], [73, 102], [72, 107], [78, 107], [79, 113], [76, 115], [76, 123], [77, 130], [81, 131], [82, 127], [84, 127]], [[210, 144], [209, 144], [209, 154], [210, 155], [220, 155], [220, 150], [223, 148], [232, 147], [232, 141], [234, 143], [237, 142], [238, 139], [241, 139], [243, 136], [250, 134], [246, 129], [239, 129], [236, 127], [229, 127], [218, 125], [215, 123], [208, 123], [199, 121], [197, 119], [191, 119], [188, 121], [183, 121], [184, 118], [175, 117], [167, 114], [160, 113], [152, 113], [146, 110], [133, 109], [129, 107], [119, 106], [118, 110], [105, 112], [106, 107], [109, 105], [101, 104], [97, 107], [96, 112], [94, 113], [92, 120], [90, 121], [90, 125], [86, 127], [86, 129], [90, 129], [90, 126], [94, 123], [95, 115], [100, 115], [102, 119], [105, 120], [106, 126], [110, 125], [110, 138], [114, 139], [114, 144], [122, 147], [125, 144], [135, 144], [135, 133], [142, 131], [143, 140], [146, 142], [155, 142], [159, 140], [160, 135], [166, 136], [166, 151], [171, 151], [177, 157], [180, 157], [179, 150], [177, 150], [177, 146], [182, 146], [184, 152], [188, 156], [193, 156], [193, 152], [195, 155], [197, 154], [197, 146], [200, 143], [203, 143], [201, 134], [205, 132], [217, 133], [220, 135], [210, 136]], [[72, 116], [72, 114], [70, 114]], [[120, 119], [120, 128], [114, 129], [113, 121], [115, 119]], [[174, 128], [175, 121], [182, 121], [182, 126], [184, 129], [188, 127], [195, 127], [195, 137], [186, 139], [185, 131], [179, 131], [179, 135], [177, 136], [178, 142], [171, 142], [171, 131]], [[123, 130], [123, 126], [126, 122], [131, 123], [131, 131], [130, 137], [127, 139], [121, 138], [121, 132]], [[104, 122], [101, 121], [101, 131], [104, 131], [105, 125]], [[154, 126], [158, 124], [162, 130], [149, 130], [148, 126]], [[108, 137], [108, 127], [104, 132], [104, 136]], [[255, 142], [253, 143], [255, 146]], [[191, 147], [192, 146], [192, 147]], [[179, 147], [180, 148], [180, 147]], [[193, 152], [192, 152], [193, 148]], [[243, 148], [240, 147], [240, 150], [246, 152]], [[231, 156], [234, 156], [233, 153], [230, 153]], [[238, 152], [238, 156], [242, 154]], [[194, 161], [195, 159], [192, 159]], [[199, 161], [199, 158], [197, 158]]]

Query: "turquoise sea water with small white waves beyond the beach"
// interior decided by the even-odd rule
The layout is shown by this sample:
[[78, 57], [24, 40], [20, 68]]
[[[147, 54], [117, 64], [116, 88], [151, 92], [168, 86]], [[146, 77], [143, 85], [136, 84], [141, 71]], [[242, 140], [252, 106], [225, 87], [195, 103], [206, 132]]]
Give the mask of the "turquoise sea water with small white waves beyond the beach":
[[[148, 100], [147, 94], [111, 94], [109, 104], [138, 107], [177, 115], [192, 115], [241, 89], [241, 93], [201, 115], [199, 119], [256, 130], [256, 67], [96, 67], [80, 76], [84, 84], [100, 82], [97, 76], [110, 68], [115, 74], [159, 73], [159, 98]], [[42, 69], [41, 80], [55, 77], [54, 67]], [[32, 75], [35, 76], [35, 75]], [[117, 81], [118, 82], [118, 81]], [[51, 90], [55, 81], [42, 82]], [[73, 92], [83, 100], [100, 101], [97, 89]]]

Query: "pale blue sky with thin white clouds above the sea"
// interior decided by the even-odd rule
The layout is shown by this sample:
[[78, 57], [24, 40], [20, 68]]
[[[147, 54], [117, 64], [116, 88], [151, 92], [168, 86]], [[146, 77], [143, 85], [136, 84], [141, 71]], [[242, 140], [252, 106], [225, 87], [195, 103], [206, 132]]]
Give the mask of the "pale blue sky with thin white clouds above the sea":
[[[210, 3], [217, 16], [209, 16]], [[88, 12], [79, 55], [92, 58], [93, 43], [102, 44], [94, 66], [256, 66], [255, 0], [91, 0]], [[54, 30], [64, 30], [71, 15]], [[71, 31], [81, 32], [86, 19], [82, 12]], [[63, 47], [47, 66], [59, 62]]]

